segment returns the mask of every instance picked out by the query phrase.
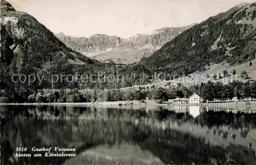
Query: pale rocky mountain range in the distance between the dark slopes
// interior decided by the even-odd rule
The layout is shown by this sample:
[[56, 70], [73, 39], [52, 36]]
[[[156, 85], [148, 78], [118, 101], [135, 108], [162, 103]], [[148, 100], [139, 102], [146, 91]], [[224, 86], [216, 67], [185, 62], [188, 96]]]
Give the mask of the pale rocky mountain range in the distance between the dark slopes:
[[95, 34], [90, 38], [65, 36], [58, 33], [58, 37], [68, 47], [101, 61], [130, 64], [138, 62], [142, 57], [148, 57], [163, 44], [172, 40], [184, 30], [195, 24], [181, 28], [162, 28], [153, 34], [137, 34], [129, 39], [117, 36]]

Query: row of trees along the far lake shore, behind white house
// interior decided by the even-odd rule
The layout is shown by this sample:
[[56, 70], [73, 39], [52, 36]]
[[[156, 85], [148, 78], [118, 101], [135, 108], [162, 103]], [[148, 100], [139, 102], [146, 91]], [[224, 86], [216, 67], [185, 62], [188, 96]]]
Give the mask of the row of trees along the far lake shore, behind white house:
[[[184, 87], [178, 85], [168, 88], [140, 87], [139, 89], [44, 89], [36, 90], [26, 99], [9, 95], [10, 91], [1, 90], [0, 103], [97, 103], [127, 101], [130, 103], [164, 103], [175, 98], [189, 98], [197, 93], [203, 102], [253, 101], [256, 99], [256, 82], [232, 81], [224, 85], [221, 82], [201, 83]], [[153, 100], [153, 101], [149, 101]], [[249, 103], [248, 103], [249, 104]]]

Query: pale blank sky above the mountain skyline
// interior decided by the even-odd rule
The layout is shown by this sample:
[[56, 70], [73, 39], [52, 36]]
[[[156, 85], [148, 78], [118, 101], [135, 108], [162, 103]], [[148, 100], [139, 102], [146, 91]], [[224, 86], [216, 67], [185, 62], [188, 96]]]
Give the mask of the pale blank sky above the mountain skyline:
[[106, 34], [129, 38], [156, 29], [200, 23], [240, 3], [185, 0], [7, 0], [34, 16], [53, 33], [74, 37]]

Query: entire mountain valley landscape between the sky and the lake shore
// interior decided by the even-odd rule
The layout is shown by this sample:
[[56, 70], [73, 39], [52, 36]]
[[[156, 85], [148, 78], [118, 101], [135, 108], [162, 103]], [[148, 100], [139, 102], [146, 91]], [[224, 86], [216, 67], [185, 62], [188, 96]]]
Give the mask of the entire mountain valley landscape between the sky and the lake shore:
[[[161, 98], [157, 96], [157, 91], [168, 93], [164, 99], [172, 99], [188, 97], [195, 92], [195, 86], [203, 87], [211, 82], [214, 86], [220, 82], [223, 88], [230, 83], [233, 85], [229, 87], [249, 88], [243, 83], [250, 81], [250, 88], [254, 90], [255, 3], [237, 5], [201, 23], [163, 28], [151, 35], [138, 34], [129, 39], [103, 34], [90, 38], [75, 38], [62, 33], [56, 35], [33, 16], [15, 11], [6, 1], [2, 1], [1, 10], [1, 102], [100, 102], [141, 100], [146, 96]], [[152, 47], [152, 55], [136, 55]], [[109, 52], [113, 58], [118, 58], [117, 49], [127, 50], [122, 55], [127, 63], [113, 59], [105, 61], [110, 57], [105, 56]], [[95, 56], [95, 53], [102, 54]], [[127, 56], [131, 57], [130, 53], [138, 60], [129, 59]], [[101, 55], [108, 58], [96, 60]], [[29, 84], [20, 78], [13, 79], [13, 75], [26, 77], [31, 74], [44, 78]], [[79, 79], [83, 75], [87, 76], [86, 80]], [[173, 87], [182, 91], [182, 95], [171, 90]], [[138, 92], [141, 89], [150, 91], [141, 95]], [[127, 90], [132, 90], [132, 97], [124, 95]], [[197, 92], [200, 93], [200, 90]], [[234, 94], [243, 98], [253, 95], [247, 96], [241, 91]], [[212, 97], [219, 96], [214, 94]]]

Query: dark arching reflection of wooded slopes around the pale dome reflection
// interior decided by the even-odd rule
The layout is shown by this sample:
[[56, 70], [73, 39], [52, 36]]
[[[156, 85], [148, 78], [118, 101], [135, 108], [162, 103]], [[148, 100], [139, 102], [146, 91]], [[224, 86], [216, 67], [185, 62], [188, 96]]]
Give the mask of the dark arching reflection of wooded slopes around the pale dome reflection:
[[[113, 145], [126, 142], [138, 145], [144, 150], [149, 150], [165, 164], [190, 164], [191, 162], [203, 164], [210, 163], [211, 158], [224, 164], [226, 162], [225, 153], [237, 154], [238, 157], [232, 157], [236, 163], [245, 161], [251, 164], [255, 161], [252, 155], [253, 152], [246, 147], [229, 146], [228, 148], [222, 148], [221, 146], [211, 146], [205, 144], [204, 139], [199, 139], [189, 133], [157, 129], [141, 122], [135, 125], [132, 122], [112, 120], [112, 118], [109, 120], [96, 118], [78, 122], [76, 119], [67, 121], [16, 117], [12, 122], [6, 123], [5, 129], [9, 129], [6, 132], [11, 132], [14, 126], [18, 127], [18, 136], [8, 136], [4, 133], [2, 134], [3, 140], [9, 141], [12, 148], [16, 147], [16, 142], [21, 140], [22, 146], [20, 147], [28, 147], [29, 152], [31, 152], [31, 146], [75, 146], [79, 152], [82, 152], [101, 144]], [[12, 137], [15, 138], [10, 139]], [[61, 157], [42, 157], [40, 159], [31, 157], [22, 160], [26, 164], [60, 164], [65, 159]]]

